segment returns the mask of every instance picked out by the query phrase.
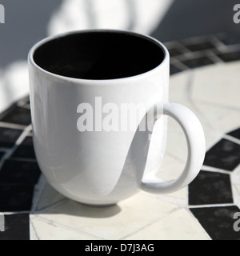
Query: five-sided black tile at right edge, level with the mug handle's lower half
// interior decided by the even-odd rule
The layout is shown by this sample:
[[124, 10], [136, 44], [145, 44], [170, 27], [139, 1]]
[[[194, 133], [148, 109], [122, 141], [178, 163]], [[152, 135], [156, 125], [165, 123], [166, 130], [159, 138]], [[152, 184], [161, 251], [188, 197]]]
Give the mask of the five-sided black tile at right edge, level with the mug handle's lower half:
[[234, 170], [240, 163], [240, 145], [222, 139], [208, 152], [204, 161], [205, 166], [213, 166], [223, 170]]

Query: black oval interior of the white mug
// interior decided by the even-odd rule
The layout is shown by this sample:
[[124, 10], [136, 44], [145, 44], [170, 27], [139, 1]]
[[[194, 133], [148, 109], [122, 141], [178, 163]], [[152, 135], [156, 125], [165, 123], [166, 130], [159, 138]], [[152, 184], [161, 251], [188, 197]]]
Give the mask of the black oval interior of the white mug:
[[93, 80], [143, 74], [164, 58], [164, 50], [154, 40], [117, 31], [68, 34], [46, 42], [34, 53], [34, 62], [44, 70]]

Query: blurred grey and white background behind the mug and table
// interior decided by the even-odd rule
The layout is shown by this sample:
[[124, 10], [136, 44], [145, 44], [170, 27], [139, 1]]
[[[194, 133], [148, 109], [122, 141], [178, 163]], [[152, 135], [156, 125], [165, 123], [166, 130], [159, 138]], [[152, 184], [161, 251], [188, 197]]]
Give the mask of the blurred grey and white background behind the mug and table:
[[94, 28], [134, 30], [162, 42], [238, 34], [237, 0], [1, 0], [0, 111], [28, 94], [26, 57], [46, 36]]

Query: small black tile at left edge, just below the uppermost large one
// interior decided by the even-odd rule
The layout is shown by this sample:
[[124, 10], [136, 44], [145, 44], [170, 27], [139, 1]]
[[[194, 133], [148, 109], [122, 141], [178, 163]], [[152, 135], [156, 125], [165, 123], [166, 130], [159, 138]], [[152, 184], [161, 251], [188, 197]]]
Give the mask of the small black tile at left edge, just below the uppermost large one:
[[0, 147], [13, 147], [22, 130], [0, 127]]

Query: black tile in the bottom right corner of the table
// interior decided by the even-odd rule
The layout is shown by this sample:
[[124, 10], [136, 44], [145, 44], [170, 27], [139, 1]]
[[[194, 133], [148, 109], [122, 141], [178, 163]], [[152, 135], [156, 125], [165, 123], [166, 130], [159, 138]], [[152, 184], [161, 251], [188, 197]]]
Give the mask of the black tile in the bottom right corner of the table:
[[213, 240], [240, 240], [240, 232], [234, 231], [234, 214], [237, 206], [190, 209]]

